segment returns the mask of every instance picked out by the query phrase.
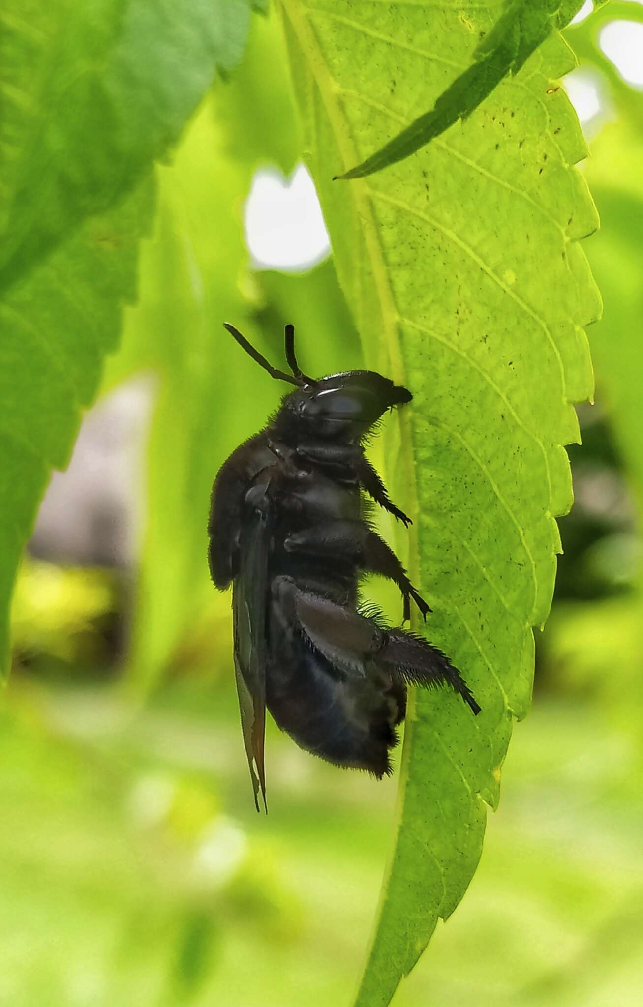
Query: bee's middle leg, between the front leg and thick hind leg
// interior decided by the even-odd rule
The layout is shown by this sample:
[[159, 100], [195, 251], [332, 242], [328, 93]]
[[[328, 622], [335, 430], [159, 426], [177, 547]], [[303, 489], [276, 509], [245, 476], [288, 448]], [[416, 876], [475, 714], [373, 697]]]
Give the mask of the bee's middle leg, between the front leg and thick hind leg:
[[343, 555], [352, 556], [367, 572], [377, 573], [392, 580], [402, 594], [405, 622], [411, 617], [411, 598], [422, 613], [424, 620], [426, 620], [427, 612], [431, 610], [411, 584], [406, 570], [393, 550], [364, 522], [320, 522], [302, 532], [289, 535], [283, 545], [288, 552], [303, 552], [314, 556], [328, 555], [332, 557], [340, 552]]

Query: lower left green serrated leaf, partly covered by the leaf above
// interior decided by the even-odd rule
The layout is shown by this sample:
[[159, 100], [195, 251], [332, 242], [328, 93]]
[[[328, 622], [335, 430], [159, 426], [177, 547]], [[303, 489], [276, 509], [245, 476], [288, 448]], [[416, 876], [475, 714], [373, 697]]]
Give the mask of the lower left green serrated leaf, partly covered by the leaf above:
[[87, 221], [0, 304], [0, 667], [20, 553], [49, 470], [63, 468], [136, 290], [149, 229], [148, 179], [117, 210]]

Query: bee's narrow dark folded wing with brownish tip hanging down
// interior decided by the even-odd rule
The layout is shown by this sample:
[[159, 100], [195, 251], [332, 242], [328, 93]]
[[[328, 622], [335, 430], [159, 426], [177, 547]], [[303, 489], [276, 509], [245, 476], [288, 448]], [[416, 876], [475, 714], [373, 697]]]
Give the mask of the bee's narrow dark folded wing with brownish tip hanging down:
[[235, 677], [241, 728], [257, 811], [260, 789], [263, 806], [268, 810], [264, 737], [269, 537], [267, 514], [255, 512], [242, 529], [240, 569], [234, 581], [232, 597]]

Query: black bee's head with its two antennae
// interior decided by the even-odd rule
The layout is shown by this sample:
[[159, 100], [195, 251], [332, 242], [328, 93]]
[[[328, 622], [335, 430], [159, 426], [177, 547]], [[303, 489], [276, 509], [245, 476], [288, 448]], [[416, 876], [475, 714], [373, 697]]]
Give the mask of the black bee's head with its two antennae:
[[292, 377], [273, 368], [232, 325], [226, 328], [273, 378], [296, 389], [285, 396], [275, 424], [282, 435], [314, 433], [320, 438], [356, 441], [387, 409], [410, 402], [408, 389], [375, 371], [346, 371], [314, 380], [303, 374], [294, 354], [294, 328], [286, 325], [286, 359]]

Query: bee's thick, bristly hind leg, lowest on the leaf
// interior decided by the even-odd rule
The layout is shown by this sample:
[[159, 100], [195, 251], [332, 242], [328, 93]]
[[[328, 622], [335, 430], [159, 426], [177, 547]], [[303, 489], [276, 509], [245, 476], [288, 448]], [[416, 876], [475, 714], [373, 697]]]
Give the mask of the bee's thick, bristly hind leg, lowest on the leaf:
[[372, 674], [374, 666], [400, 685], [449, 686], [475, 714], [480, 713], [459, 670], [421, 636], [403, 629], [384, 629], [373, 618], [302, 591], [290, 577], [275, 578], [275, 596], [282, 618], [298, 625], [312, 646], [346, 675], [365, 677]]

